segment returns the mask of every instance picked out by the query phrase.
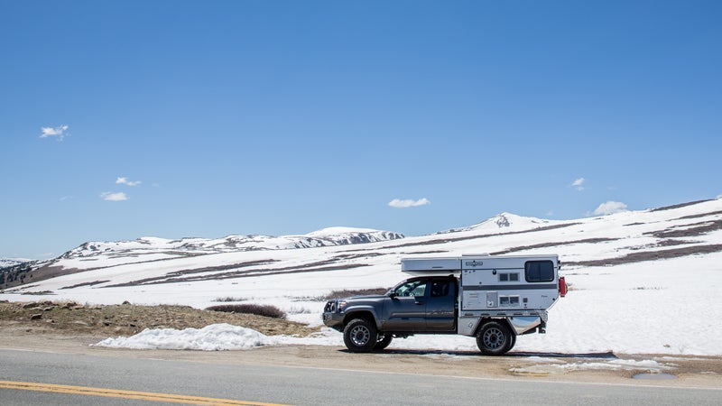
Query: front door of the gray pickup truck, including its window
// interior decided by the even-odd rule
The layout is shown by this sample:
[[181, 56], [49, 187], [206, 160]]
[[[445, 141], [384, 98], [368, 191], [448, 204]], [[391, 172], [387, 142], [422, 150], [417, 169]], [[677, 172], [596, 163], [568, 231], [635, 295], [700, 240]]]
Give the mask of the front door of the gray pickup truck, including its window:
[[384, 325], [387, 331], [423, 331], [426, 329], [428, 279], [403, 283], [395, 296], [384, 302]]

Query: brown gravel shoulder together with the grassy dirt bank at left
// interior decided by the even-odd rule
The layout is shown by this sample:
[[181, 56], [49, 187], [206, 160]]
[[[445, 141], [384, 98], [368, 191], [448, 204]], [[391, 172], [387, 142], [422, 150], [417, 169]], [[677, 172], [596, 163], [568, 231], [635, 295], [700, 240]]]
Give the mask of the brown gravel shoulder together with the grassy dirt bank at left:
[[[37, 305], [0, 302], [0, 348], [248, 366], [273, 364], [466, 378], [722, 388], [720, 356], [511, 352], [488, 357], [477, 352], [433, 349], [351, 354], [336, 346], [268, 346], [218, 352], [91, 346], [107, 337], [131, 336], [143, 328], [202, 328], [214, 323], [254, 328], [266, 335], [308, 336], [318, 331], [288, 320], [183, 306], [88, 307], [72, 302]], [[649, 362], [656, 364], [650, 366]], [[659, 373], [671, 374], [674, 379], [654, 379], [665, 377]], [[652, 379], [633, 379], [636, 374], [651, 374]]]

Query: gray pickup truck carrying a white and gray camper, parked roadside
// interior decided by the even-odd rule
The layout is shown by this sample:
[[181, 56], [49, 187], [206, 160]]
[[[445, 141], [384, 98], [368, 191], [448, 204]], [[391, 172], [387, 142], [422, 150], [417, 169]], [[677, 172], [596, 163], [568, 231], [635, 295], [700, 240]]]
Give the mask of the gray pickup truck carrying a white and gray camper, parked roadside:
[[323, 322], [351, 352], [382, 350], [393, 337], [477, 337], [485, 355], [503, 355], [516, 337], [544, 333], [547, 309], [566, 293], [557, 255], [471, 255], [402, 261], [415, 276], [384, 295], [329, 300]]

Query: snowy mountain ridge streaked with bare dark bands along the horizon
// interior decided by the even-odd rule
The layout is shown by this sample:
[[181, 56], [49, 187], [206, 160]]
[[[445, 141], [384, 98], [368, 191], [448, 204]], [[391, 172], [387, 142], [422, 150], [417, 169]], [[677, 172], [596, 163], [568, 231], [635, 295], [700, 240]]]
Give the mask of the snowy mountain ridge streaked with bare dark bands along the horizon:
[[[32, 280], [34, 287], [57, 294], [60, 289], [133, 288], [293, 272], [386, 275], [397, 269], [396, 263], [403, 255], [542, 251], [560, 254], [562, 262], [570, 267], [614, 266], [717, 253], [722, 251], [722, 199], [573, 220], [545, 220], [504, 212], [474, 226], [421, 236], [329, 227], [308, 235], [278, 237], [142, 237], [126, 242], [89, 242], [47, 262], [5, 268], [0, 287], [5, 292], [26, 293], [31, 291]], [[62, 282], [70, 274], [77, 276]], [[47, 282], [50, 280], [58, 281]]]

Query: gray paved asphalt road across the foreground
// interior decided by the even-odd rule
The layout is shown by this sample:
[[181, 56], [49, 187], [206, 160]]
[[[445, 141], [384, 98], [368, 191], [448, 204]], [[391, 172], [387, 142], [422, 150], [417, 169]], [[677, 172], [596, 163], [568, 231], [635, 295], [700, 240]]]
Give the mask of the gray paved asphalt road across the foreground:
[[[4, 405], [214, 404], [199, 398], [213, 398], [217, 404], [717, 405], [722, 398], [722, 390], [716, 389], [435, 377], [8, 349], [0, 350], [0, 381]], [[101, 392], [106, 396], [98, 397]], [[163, 397], [165, 401], [149, 400]]]

